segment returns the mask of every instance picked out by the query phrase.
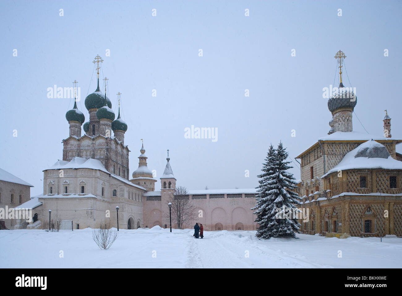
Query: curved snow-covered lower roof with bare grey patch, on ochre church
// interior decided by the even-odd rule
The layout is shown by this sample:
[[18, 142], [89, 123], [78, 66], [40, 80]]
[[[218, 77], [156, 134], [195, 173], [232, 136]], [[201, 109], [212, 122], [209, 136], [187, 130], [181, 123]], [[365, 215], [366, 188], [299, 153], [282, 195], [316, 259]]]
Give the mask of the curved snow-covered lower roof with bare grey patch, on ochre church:
[[339, 170], [352, 169], [402, 170], [402, 161], [392, 158], [384, 145], [370, 140], [349, 151], [338, 165], [321, 178]]

